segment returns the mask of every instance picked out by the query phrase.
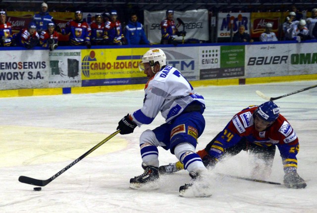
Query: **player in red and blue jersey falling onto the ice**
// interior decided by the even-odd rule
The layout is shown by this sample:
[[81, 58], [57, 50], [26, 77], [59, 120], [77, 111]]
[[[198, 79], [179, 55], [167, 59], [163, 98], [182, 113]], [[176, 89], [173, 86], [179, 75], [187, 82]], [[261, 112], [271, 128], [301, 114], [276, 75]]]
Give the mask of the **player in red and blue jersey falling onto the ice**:
[[[207, 167], [212, 168], [226, 155], [248, 151], [260, 163], [255, 163], [253, 175], [263, 178], [271, 173], [275, 147], [282, 158], [285, 186], [305, 188], [305, 181], [297, 173], [298, 137], [273, 102], [249, 106], [235, 114], [226, 127], [197, 154]], [[177, 162], [160, 166], [159, 170], [161, 173], [172, 173], [181, 167], [181, 163]]]

